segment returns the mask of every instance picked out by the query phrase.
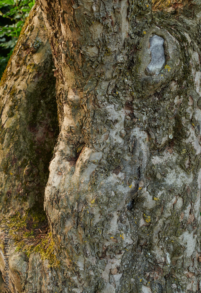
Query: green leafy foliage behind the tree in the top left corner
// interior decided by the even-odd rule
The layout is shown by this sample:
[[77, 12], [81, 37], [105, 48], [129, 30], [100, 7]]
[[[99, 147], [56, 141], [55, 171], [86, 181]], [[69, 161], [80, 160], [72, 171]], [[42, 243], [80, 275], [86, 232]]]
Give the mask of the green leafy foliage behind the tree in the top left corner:
[[0, 0], [0, 79], [35, 0]]

